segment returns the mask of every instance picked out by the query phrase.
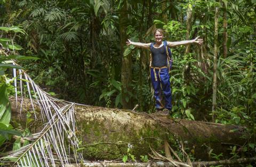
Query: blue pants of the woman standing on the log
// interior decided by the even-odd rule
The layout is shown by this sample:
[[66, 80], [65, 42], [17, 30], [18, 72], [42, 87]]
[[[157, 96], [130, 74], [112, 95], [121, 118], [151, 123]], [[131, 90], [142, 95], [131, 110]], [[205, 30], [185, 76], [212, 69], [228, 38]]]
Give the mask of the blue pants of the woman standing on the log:
[[[172, 110], [172, 92], [168, 68], [150, 68], [150, 77], [156, 99], [156, 108]], [[162, 92], [164, 94], [165, 105], [163, 105]]]

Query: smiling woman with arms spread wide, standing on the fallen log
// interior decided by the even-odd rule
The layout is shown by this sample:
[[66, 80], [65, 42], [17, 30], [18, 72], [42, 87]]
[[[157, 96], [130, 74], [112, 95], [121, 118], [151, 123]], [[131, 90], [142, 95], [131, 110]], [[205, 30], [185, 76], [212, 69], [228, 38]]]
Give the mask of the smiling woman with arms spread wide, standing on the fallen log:
[[[166, 48], [163, 43], [163, 30], [156, 29], [154, 31], [154, 43], [135, 43], [128, 39], [127, 45], [134, 45], [141, 48], [150, 48], [151, 51], [151, 62], [150, 62], [150, 77], [152, 86], [154, 88], [154, 97], [156, 99], [156, 109], [158, 114], [169, 115], [172, 110], [172, 93], [170, 87], [170, 75], [169, 69], [167, 68], [167, 54]], [[167, 47], [175, 47], [187, 44], [203, 44], [203, 39], [196, 37], [193, 40], [182, 40], [182, 41], [166, 41]], [[162, 103], [162, 92], [164, 94], [165, 105]]]

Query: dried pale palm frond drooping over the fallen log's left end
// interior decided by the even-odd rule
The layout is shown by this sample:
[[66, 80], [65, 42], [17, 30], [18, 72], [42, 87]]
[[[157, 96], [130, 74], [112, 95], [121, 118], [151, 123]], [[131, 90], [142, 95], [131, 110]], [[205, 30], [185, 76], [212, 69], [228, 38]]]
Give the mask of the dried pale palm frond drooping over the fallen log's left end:
[[[13, 61], [14, 64], [18, 65]], [[82, 154], [77, 153], [78, 139], [75, 135], [75, 111], [74, 103], [61, 102], [57, 103], [58, 99], [51, 97], [43, 91], [35, 82], [28, 76], [24, 70], [19, 69], [19, 87], [21, 92], [21, 108], [23, 96], [29, 94], [30, 102], [34, 111], [32, 99], [35, 97], [36, 102], [41, 110], [42, 120], [45, 127], [41, 132], [34, 133], [27, 137], [29, 140], [34, 140], [31, 144], [21, 147], [17, 151], [12, 151], [2, 157], [3, 160], [12, 160], [18, 166], [61, 166], [70, 163], [70, 155], [74, 157], [74, 161], [83, 160]], [[17, 78], [16, 70], [14, 70], [14, 85], [17, 99]], [[25, 79], [23, 79], [25, 77]], [[26, 89], [23, 85], [26, 83]], [[33, 90], [33, 91], [32, 91]], [[35, 112], [34, 112], [35, 113]], [[36, 118], [36, 114], [35, 114]], [[26, 137], [24, 138], [26, 139]]]

